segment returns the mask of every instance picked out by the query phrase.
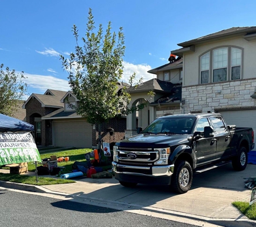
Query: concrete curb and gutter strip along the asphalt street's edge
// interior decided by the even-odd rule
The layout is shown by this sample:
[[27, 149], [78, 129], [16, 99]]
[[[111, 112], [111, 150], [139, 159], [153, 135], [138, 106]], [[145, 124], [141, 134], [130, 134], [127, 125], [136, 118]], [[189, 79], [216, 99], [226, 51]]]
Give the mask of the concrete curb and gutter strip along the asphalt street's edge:
[[[96, 197], [81, 196], [81, 195], [78, 196], [75, 194], [58, 193], [56, 191], [52, 191], [52, 190], [46, 189], [41, 186], [25, 185], [23, 183], [0, 181], [0, 187], [32, 191], [35, 193], [49, 193], [49, 194], [63, 195], [65, 197], [74, 198], [76, 202], [79, 202], [79, 198], [80, 198], [80, 200], [82, 200], [82, 202], [89, 204], [89, 205], [96, 205], [99, 207], [112, 208], [115, 210], [122, 210], [122, 211], [128, 211], [128, 212], [134, 212], [134, 210], [135, 211], [141, 210], [142, 212], [145, 212], [146, 215], [155, 216], [158, 218], [164, 218], [164, 216], [172, 216], [172, 217], [176, 217], [176, 218], [190, 219], [191, 221], [193, 220], [194, 222], [195, 221], [196, 222], [206, 222], [206, 223], [209, 223], [212, 225], [225, 226], [225, 227], [240, 227], [240, 226], [255, 227], [256, 226], [256, 221], [246, 219], [246, 218], [240, 218], [240, 219], [210, 218], [210, 217], [191, 215], [188, 213], [165, 210], [165, 209], [160, 209], [160, 208], [155, 208], [155, 207], [143, 207], [143, 206], [137, 205], [137, 204], [130, 204], [130, 203], [124, 203], [124, 202], [118, 202], [118, 201], [110, 201], [110, 200], [105, 200], [105, 199], [96, 198]], [[136, 213], [136, 212], [134, 212], [134, 213]], [[138, 214], [138, 213], [136, 213], [136, 214]], [[192, 224], [192, 223], [190, 223], [190, 224]], [[196, 223], [193, 223], [193, 224], [196, 224]], [[204, 226], [206, 226], [205, 224], [204, 224]]]

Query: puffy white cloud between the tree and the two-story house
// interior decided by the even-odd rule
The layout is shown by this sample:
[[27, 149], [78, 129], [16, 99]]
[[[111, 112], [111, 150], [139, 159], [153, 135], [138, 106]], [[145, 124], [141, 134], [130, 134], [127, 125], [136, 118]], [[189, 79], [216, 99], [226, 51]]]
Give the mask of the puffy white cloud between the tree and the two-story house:
[[129, 77], [133, 75], [133, 73], [136, 73], [136, 79], [143, 78], [143, 81], [148, 81], [154, 78], [154, 75], [151, 73], [147, 73], [148, 70], [151, 69], [151, 66], [147, 64], [140, 64], [140, 65], [134, 65], [132, 63], [123, 62], [123, 76], [122, 81], [128, 83]]

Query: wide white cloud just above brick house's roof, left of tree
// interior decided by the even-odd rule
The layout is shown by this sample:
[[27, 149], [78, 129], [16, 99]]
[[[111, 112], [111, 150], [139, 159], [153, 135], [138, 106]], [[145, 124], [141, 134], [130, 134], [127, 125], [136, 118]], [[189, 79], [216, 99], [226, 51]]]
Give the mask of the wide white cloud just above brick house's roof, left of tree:
[[70, 90], [70, 86], [67, 80], [59, 79], [54, 76], [43, 76], [28, 73], [24, 73], [24, 76], [27, 77], [25, 82], [27, 83], [28, 88], [35, 88], [39, 91], [46, 91], [47, 89], [64, 91]]

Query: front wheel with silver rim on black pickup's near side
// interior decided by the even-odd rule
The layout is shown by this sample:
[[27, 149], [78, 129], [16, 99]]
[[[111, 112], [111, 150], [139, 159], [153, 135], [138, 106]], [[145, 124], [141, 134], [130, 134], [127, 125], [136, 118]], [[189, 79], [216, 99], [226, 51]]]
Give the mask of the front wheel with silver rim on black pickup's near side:
[[171, 190], [179, 194], [186, 193], [192, 185], [192, 179], [193, 172], [189, 162], [178, 161], [171, 176]]

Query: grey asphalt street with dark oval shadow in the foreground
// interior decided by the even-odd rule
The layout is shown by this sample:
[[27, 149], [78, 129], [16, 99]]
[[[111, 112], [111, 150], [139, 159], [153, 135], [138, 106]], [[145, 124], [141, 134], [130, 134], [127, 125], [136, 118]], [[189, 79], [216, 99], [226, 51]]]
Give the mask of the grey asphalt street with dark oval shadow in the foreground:
[[0, 189], [0, 226], [174, 226], [195, 225], [83, 203]]

